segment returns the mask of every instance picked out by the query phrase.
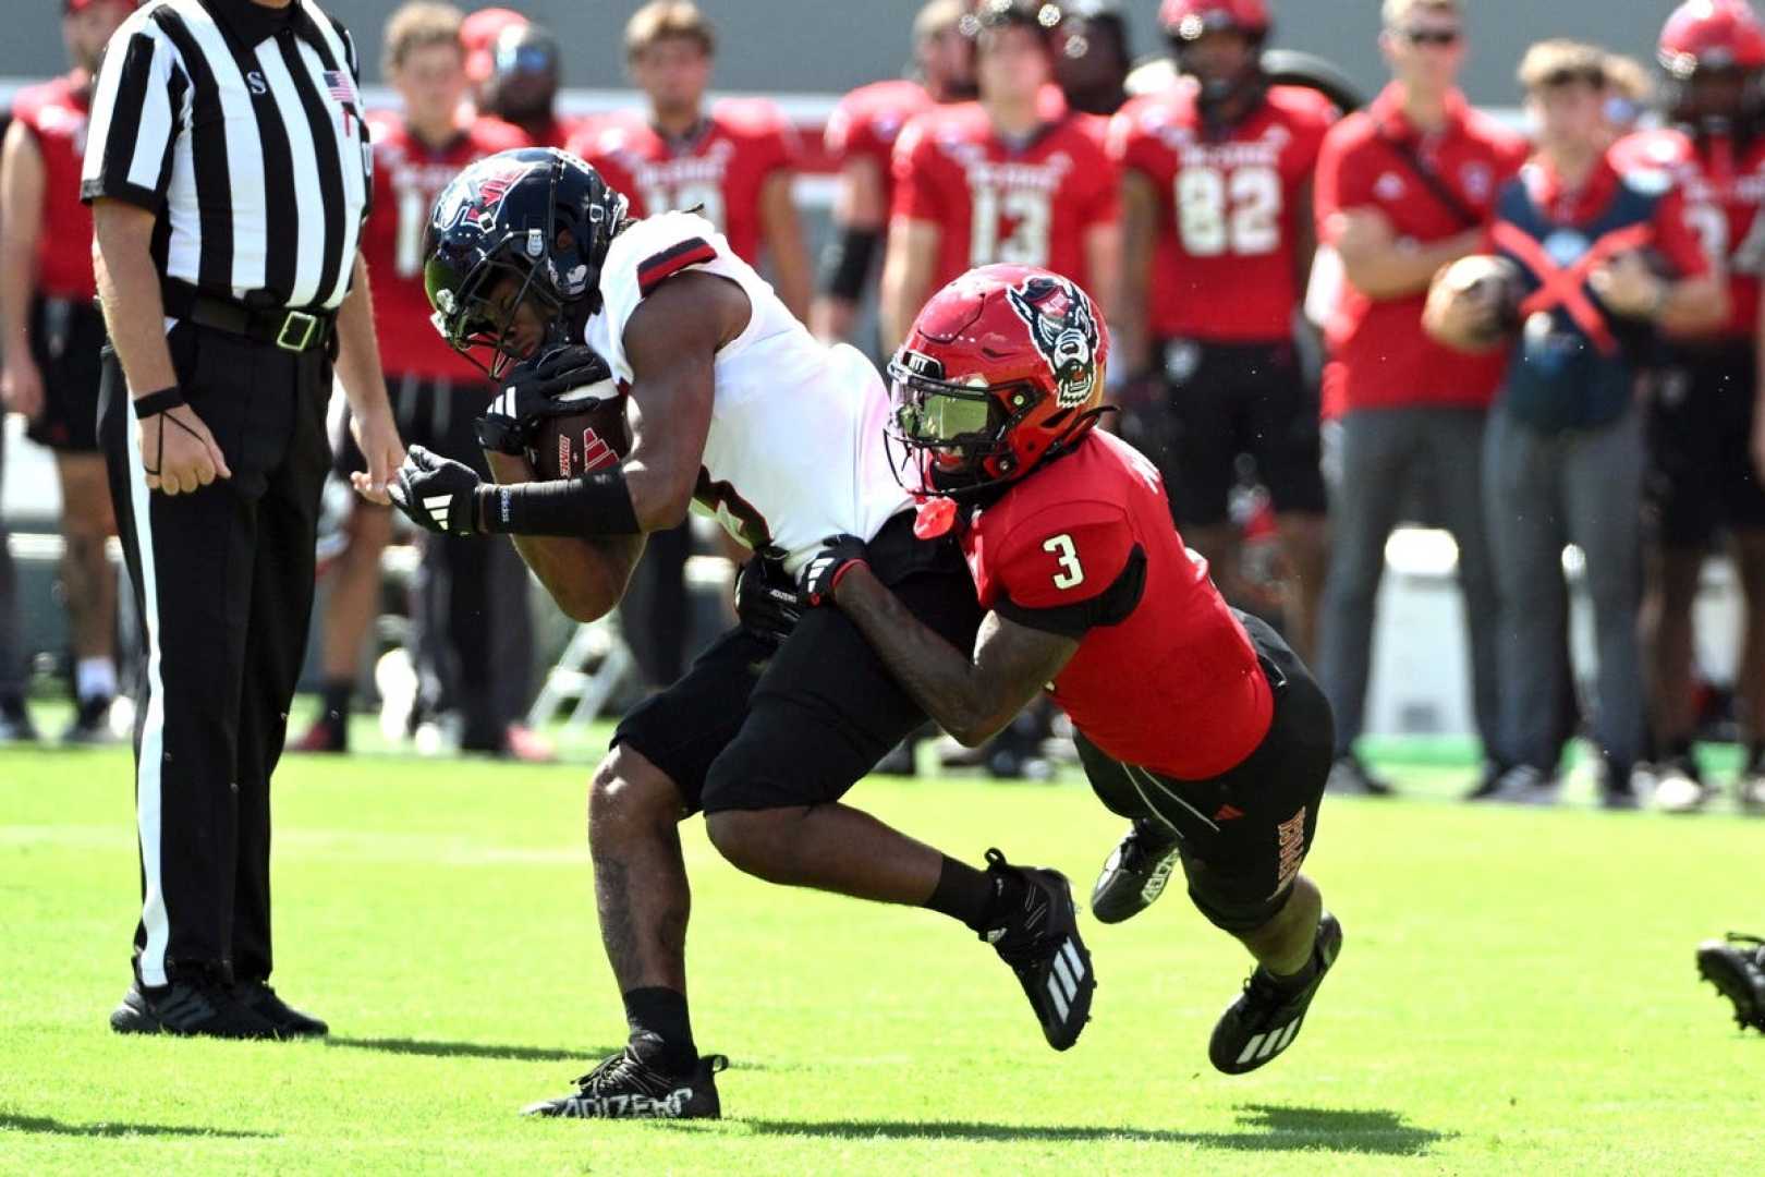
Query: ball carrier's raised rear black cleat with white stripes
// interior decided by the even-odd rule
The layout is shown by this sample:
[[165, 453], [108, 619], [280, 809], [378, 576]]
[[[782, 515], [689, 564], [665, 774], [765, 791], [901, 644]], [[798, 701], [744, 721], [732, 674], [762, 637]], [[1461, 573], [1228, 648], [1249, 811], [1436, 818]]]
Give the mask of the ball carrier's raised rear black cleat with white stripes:
[[987, 873], [1017, 875], [1024, 902], [981, 930], [981, 939], [1011, 965], [1048, 1045], [1066, 1050], [1091, 1020], [1091, 993], [1098, 986], [1091, 953], [1078, 939], [1073, 886], [1057, 870], [1011, 866], [999, 851], [987, 851]]

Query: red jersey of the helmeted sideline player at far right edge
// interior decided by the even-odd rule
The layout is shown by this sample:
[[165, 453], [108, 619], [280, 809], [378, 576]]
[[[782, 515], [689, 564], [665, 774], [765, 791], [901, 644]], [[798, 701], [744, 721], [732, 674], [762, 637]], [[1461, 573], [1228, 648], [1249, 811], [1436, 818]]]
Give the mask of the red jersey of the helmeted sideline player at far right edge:
[[1760, 323], [1760, 274], [1765, 272], [1765, 138], [1744, 146], [1680, 131], [1641, 131], [1611, 148], [1619, 171], [1666, 169], [1686, 199], [1710, 266], [1728, 275], [1728, 325], [1723, 339], [1753, 339]]

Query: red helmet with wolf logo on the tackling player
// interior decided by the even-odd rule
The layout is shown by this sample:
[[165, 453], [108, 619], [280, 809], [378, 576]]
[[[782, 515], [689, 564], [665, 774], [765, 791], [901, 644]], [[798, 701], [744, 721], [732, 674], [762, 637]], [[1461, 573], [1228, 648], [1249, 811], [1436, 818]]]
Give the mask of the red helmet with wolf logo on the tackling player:
[[1070, 450], [1098, 422], [1107, 364], [1108, 328], [1077, 282], [1022, 265], [950, 282], [888, 367], [914, 489], [962, 496]]

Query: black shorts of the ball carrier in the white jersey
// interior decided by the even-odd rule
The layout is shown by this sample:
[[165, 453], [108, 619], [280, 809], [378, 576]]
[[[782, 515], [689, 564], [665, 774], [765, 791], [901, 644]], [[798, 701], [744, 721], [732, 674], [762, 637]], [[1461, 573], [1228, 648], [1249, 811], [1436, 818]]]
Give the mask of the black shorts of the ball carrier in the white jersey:
[[[900, 514], [870, 542], [870, 566], [913, 616], [974, 648], [981, 609], [953, 536], [916, 540]], [[822, 607], [778, 648], [731, 630], [627, 715], [612, 745], [667, 773], [690, 810], [768, 810], [838, 801], [923, 722], [858, 626]]]

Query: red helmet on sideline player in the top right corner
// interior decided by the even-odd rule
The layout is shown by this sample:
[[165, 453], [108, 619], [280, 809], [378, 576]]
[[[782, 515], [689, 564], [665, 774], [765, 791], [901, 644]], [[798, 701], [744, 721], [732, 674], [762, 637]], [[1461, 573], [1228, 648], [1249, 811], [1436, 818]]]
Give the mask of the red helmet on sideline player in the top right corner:
[[1687, 0], [1673, 9], [1657, 62], [1668, 113], [1679, 122], [1721, 129], [1765, 108], [1765, 25], [1746, 0]]

